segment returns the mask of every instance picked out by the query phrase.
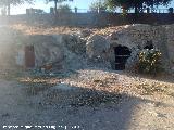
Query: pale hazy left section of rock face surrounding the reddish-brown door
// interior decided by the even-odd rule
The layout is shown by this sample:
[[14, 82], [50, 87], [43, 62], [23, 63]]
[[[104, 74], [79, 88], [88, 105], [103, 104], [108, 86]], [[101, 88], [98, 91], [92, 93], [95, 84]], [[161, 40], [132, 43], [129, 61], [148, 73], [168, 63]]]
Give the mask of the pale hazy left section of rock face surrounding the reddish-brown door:
[[[58, 62], [61, 65], [63, 60], [63, 49], [52, 36], [27, 36], [9, 27], [1, 28], [0, 31], [0, 60], [2, 66], [9, 68], [24, 67], [26, 65], [27, 46], [34, 47], [35, 67]], [[59, 66], [60, 67], [60, 66]]]

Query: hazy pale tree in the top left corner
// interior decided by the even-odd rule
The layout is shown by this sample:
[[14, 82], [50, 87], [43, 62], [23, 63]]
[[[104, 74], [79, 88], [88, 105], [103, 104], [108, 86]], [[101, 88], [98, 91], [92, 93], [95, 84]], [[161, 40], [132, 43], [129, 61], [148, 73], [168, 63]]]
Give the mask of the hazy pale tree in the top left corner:
[[3, 6], [8, 15], [10, 15], [11, 5], [18, 5], [25, 2], [32, 3], [34, 0], [0, 0], [0, 6]]

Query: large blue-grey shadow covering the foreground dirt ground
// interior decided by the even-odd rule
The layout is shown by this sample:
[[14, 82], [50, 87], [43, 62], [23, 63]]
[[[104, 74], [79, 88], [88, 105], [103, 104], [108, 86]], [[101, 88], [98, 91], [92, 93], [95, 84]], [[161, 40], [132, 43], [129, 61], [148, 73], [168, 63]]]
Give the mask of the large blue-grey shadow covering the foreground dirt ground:
[[[9, 86], [7, 83], [11, 82], [10, 80], [1, 81], [0, 91], [3, 93], [0, 95], [0, 103], [9, 102], [5, 107], [0, 108], [1, 125], [55, 125], [60, 130], [65, 130], [65, 127], [67, 130], [73, 130], [73, 126], [79, 126], [76, 128], [79, 130], [128, 130], [138, 104], [151, 103], [157, 106], [169, 106], [161, 102], [126, 93], [96, 90], [95, 86], [91, 89], [78, 86], [69, 90], [54, 88], [59, 79], [76, 76], [78, 72], [74, 70], [63, 77], [61, 74], [59, 75], [60, 77], [51, 76], [51, 78], [58, 79], [52, 83], [49, 82], [47, 76], [44, 80], [38, 81], [35, 80], [38, 78], [36, 76], [34, 79], [28, 79], [33, 83], [23, 82], [20, 84], [21, 88], [16, 87], [17, 82]], [[7, 86], [11, 89], [8, 89]], [[66, 86], [70, 87], [70, 84]], [[13, 102], [11, 102], [12, 99]], [[37, 130], [37, 128], [32, 128], [32, 130], [35, 129]]]

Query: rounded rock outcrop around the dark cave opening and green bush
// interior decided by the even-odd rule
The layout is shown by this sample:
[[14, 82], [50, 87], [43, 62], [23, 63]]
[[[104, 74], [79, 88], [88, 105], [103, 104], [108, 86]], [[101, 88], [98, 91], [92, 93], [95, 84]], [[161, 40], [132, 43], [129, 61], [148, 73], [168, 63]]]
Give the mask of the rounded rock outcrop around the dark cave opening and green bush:
[[[111, 41], [111, 63], [114, 63], [114, 47], [124, 46], [133, 53], [137, 49], [153, 47], [162, 52], [163, 65], [169, 67], [169, 35], [166, 27], [150, 25], [127, 25], [123, 29], [112, 32], [108, 40]], [[170, 40], [171, 41], [171, 40]], [[170, 51], [171, 52], [171, 51]], [[172, 54], [172, 53], [171, 53]], [[134, 54], [133, 54], [134, 55]], [[132, 60], [135, 58], [132, 55]]]

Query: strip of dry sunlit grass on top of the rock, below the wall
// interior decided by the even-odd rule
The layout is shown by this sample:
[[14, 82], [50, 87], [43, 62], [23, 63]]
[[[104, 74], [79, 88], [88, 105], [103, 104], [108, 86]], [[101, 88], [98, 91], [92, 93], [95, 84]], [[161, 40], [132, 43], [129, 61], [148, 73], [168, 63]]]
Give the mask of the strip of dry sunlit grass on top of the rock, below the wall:
[[88, 28], [88, 27], [69, 27], [69, 26], [60, 26], [60, 27], [51, 27], [51, 26], [30, 26], [25, 24], [15, 24], [11, 25], [12, 28], [16, 30], [21, 30], [26, 35], [57, 35], [57, 34], [73, 34], [78, 32], [80, 30], [90, 29], [92, 34], [99, 35], [110, 35], [115, 30], [120, 30], [123, 26], [114, 26], [114, 27], [105, 27], [105, 28]]

